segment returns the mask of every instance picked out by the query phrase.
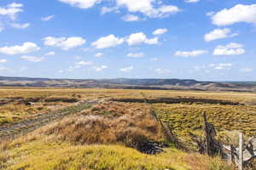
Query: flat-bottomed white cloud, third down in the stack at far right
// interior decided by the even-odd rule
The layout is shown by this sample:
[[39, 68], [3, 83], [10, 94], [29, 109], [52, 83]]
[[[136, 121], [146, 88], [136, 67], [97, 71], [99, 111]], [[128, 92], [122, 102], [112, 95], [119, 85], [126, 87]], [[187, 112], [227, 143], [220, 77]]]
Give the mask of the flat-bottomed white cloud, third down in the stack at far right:
[[240, 43], [230, 42], [225, 46], [219, 45], [214, 49], [213, 55], [239, 55], [244, 54], [245, 50]]

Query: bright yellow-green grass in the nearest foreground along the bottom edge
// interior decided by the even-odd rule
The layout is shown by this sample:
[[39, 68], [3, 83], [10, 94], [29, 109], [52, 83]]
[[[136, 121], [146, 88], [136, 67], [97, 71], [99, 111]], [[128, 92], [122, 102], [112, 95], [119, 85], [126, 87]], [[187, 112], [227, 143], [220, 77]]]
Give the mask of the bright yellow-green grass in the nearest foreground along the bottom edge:
[[[33, 138], [32, 138], [33, 136]], [[0, 152], [4, 170], [234, 170], [218, 157], [168, 148], [148, 156], [117, 144], [73, 145], [35, 132], [16, 139]]]

